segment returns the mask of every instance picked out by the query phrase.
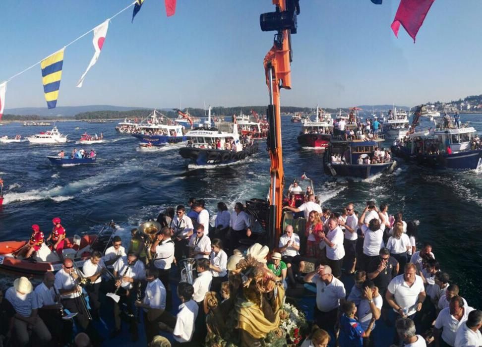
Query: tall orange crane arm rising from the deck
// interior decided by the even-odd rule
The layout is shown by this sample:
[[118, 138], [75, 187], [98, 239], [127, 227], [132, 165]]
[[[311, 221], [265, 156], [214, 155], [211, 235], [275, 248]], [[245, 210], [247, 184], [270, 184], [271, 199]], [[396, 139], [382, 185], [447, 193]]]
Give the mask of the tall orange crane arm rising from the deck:
[[276, 11], [263, 13], [260, 17], [261, 30], [278, 33], [274, 45], [264, 57], [266, 84], [270, 104], [267, 109], [269, 122], [268, 151], [271, 159], [268, 246], [278, 246], [283, 216], [283, 148], [281, 145], [280, 89], [291, 89], [291, 33], [296, 33], [296, 15], [300, 13], [299, 0], [273, 0]]

